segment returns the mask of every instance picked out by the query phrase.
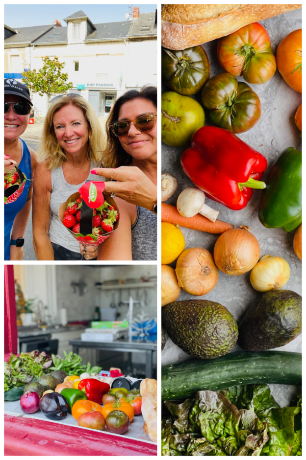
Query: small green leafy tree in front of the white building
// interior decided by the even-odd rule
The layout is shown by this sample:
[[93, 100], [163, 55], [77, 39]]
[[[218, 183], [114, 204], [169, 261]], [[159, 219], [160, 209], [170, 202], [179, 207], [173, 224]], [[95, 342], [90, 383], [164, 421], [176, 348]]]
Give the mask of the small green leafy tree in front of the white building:
[[50, 97], [54, 94], [60, 94], [73, 87], [71, 82], [67, 82], [68, 74], [63, 74], [61, 71], [65, 67], [65, 63], [59, 61], [56, 56], [54, 59], [49, 59], [47, 56], [42, 58], [43, 66], [36, 71], [30, 70], [23, 72], [22, 82], [28, 86], [33, 93], [43, 96], [44, 94]]

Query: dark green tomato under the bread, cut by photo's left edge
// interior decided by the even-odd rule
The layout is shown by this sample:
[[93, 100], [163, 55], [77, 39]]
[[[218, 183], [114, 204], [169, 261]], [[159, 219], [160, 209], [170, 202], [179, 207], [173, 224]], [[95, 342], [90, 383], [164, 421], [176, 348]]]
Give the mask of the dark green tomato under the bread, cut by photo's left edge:
[[162, 80], [172, 91], [191, 96], [198, 93], [210, 77], [210, 63], [204, 49], [183, 51], [162, 48]]

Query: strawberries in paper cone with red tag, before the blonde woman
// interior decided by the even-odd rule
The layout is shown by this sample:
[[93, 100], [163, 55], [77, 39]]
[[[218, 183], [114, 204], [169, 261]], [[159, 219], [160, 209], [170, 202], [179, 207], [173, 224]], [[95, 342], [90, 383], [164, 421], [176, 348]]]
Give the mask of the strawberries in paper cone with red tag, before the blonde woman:
[[60, 221], [84, 245], [98, 246], [119, 226], [118, 206], [110, 196], [105, 199], [104, 188], [104, 182], [86, 182], [60, 205]]

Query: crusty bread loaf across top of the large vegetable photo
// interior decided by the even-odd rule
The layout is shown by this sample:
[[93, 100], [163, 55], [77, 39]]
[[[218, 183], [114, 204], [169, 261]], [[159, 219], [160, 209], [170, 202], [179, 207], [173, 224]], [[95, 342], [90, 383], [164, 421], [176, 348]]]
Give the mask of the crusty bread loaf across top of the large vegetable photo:
[[164, 5], [162, 46], [185, 50], [302, 5]]

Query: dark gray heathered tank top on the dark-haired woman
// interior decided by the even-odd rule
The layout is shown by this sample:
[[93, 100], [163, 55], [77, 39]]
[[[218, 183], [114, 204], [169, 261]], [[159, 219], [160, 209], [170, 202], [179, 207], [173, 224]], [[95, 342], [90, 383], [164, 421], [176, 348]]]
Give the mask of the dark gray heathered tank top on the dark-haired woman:
[[132, 259], [157, 260], [157, 216], [140, 206], [132, 225]]

